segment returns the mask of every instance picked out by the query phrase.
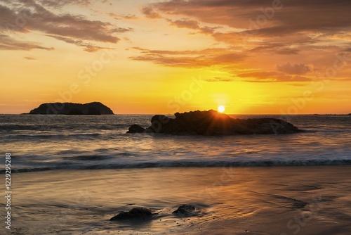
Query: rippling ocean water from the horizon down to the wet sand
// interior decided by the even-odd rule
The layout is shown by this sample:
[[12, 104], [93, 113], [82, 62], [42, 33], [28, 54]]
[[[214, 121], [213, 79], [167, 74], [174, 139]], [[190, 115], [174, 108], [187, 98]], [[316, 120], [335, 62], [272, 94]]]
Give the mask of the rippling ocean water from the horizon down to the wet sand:
[[[282, 118], [232, 115], [233, 118]], [[13, 172], [144, 167], [351, 164], [351, 115], [284, 118], [305, 132], [287, 135], [126, 134], [152, 115], [0, 115], [1, 148]]]

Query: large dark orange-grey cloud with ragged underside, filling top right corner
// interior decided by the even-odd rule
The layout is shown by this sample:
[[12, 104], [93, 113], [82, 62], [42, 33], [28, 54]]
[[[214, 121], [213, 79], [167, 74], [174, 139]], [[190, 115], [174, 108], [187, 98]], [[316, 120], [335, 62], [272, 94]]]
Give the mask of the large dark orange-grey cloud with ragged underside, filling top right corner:
[[[273, 6], [274, 2], [281, 4]], [[329, 36], [351, 30], [351, 1], [347, 0], [173, 0], [151, 6], [159, 13], [192, 18], [199, 24], [228, 26], [226, 31], [216, 32], [213, 28], [207, 31], [220, 42], [250, 46], [255, 40], [264, 44], [272, 38], [280, 39], [285, 47], [271, 52], [281, 55], [300, 53], [297, 47], [286, 46], [302, 44], [300, 39], [309, 38], [305, 43], [311, 45], [327, 44], [332, 41]], [[204, 29], [199, 27], [197, 30]], [[320, 35], [315, 37], [313, 34]]]

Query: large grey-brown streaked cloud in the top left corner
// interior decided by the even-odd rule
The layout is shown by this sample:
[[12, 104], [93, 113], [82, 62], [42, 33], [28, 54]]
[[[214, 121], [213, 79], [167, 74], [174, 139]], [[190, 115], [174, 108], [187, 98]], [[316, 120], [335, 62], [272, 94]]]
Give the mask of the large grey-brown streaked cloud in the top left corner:
[[[0, 5], [0, 32], [42, 32], [56, 39], [65, 38], [78, 46], [91, 44], [85, 41], [108, 42], [115, 44], [119, 37], [114, 34], [131, 31], [131, 28], [115, 27], [108, 22], [88, 20], [83, 15], [53, 13], [46, 6], [59, 7], [64, 4], [88, 5], [89, 1], [11, 1], [7, 6]], [[25, 9], [25, 10], [23, 10]], [[78, 42], [78, 43], [77, 43]], [[91, 47], [90, 47], [91, 48]], [[98, 47], [95, 47], [98, 48]], [[88, 51], [93, 51], [88, 49]]]

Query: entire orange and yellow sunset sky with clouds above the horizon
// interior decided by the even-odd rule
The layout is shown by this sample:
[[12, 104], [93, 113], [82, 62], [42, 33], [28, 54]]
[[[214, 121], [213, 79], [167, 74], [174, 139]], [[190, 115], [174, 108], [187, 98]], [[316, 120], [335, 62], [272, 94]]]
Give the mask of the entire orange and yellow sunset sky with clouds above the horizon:
[[0, 0], [0, 113], [351, 113], [350, 0]]

